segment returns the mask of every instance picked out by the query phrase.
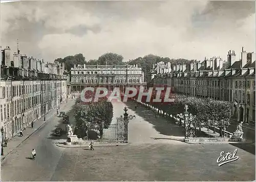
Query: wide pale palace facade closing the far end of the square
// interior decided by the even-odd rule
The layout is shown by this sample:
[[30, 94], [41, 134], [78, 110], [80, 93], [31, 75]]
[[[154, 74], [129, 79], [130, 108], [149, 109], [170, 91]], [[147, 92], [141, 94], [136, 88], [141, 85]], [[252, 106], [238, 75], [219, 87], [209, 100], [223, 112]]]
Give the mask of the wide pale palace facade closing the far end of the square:
[[144, 73], [138, 65], [75, 65], [71, 69], [71, 89], [81, 92], [85, 87], [105, 87], [112, 91], [119, 87], [145, 86]]

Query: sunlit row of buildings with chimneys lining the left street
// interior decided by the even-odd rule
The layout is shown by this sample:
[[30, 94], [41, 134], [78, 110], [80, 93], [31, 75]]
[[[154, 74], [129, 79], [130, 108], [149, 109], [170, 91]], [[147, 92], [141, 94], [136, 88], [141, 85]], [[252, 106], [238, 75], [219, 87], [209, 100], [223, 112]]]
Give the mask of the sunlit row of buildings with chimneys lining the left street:
[[44, 63], [1, 50], [1, 128], [3, 137], [13, 138], [20, 129], [59, 108], [67, 98], [67, 77], [61, 64]]

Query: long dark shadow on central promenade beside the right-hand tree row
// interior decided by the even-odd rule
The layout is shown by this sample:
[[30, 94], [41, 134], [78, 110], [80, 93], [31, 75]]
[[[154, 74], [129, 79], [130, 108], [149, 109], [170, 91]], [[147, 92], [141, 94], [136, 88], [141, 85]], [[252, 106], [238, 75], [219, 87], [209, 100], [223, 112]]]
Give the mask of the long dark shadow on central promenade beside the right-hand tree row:
[[[169, 119], [163, 118], [161, 115], [153, 112], [152, 110], [147, 110], [143, 105], [137, 106], [136, 102], [128, 101], [125, 104], [129, 109], [133, 110], [138, 116], [142, 117], [148, 123], [153, 124], [154, 128], [160, 133], [168, 136], [184, 137], [183, 127], [179, 127], [176, 124], [169, 121]], [[137, 108], [135, 109], [135, 106]]]

